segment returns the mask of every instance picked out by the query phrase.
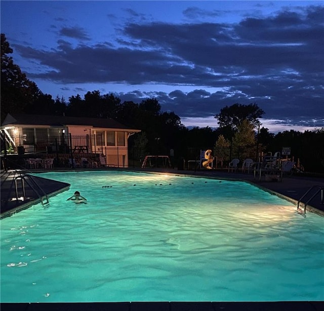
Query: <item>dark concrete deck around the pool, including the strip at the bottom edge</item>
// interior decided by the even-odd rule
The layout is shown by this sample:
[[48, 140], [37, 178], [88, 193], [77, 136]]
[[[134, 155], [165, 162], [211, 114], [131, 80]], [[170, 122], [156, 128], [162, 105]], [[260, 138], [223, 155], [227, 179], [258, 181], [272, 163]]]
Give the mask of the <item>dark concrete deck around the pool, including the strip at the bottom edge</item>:
[[[117, 170], [107, 168], [107, 170]], [[125, 170], [125, 169], [124, 169]], [[194, 177], [207, 177], [227, 180], [241, 180], [270, 192], [274, 192], [293, 202], [298, 201], [303, 194], [313, 186], [324, 187], [322, 178], [312, 178], [306, 176], [290, 176], [284, 177], [282, 182], [265, 182], [255, 179], [254, 175], [242, 174], [241, 172], [228, 173], [226, 171], [216, 170], [177, 170], [169, 168], [152, 168], [152, 169], [134, 169], [131, 171], [139, 172], [158, 172], [170, 173], [176, 175], [187, 175]], [[59, 170], [57, 170], [59, 171]], [[61, 170], [60, 170], [61, 171]], [[41, 171], [33, 171], [41, 172]], [[28, 172], [25, 172], [28, 173]], [[39, 202], [39, 197], [34, 191], [25, 184], [27, 200], [12, 200], [16, 197], [15, 178], [19, 177], [19, 172], [8, 171], [1, 174], [1, 214], [10, 216], [11, 212], [28, 208], [30, 204]], [[37, 184], [42, 187], [48, 196], [55, 195], [59, 192], [69, 189], [69, 184], [44, 179], [41, 177], [33, 177]], [[22, 193], [21, 180], [18, 178], [18, 193]], [[318, 214], [324, 216], [324, 206], [320, 201], [320, 194], [310, 202], [312, 208], [315, 208]], [[302, 284], [300, 290], [302, 291]], [[80, 297], [82, 299], [82, 297]], [[102, 302], [102, 303], [1, 303], [1, 310], [49, 310], [49, 311], [233, 311], [233, 310], [294, 310], [294, 311], [319, 311], [324, 309], [322, 301], [277, 301], [277, 302], [128, 302], [127, 293], [126, 302]]]

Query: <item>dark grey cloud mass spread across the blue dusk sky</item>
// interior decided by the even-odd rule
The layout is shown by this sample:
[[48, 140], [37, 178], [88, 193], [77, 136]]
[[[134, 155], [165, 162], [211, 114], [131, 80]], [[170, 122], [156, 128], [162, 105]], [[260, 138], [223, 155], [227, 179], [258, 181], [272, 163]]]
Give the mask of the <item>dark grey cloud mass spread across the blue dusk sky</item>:
[[[206, 12], [188, 8], [184, 14]], [[65, 40], [60, 39], [56, 49], [17, 44], [14, 48], [44, 66], [42, 73], [27, 73], [34, 79], [174, 85], [169, 93], [156, 89], [118, 95], [134, 101], [154, 96], [164, 111], [183, 117], [197, 112], [212, 116], [225, 105], [256, 102], [267, 118], [285, 115], [293, 122], [317, 119], [324, 124], [319, 114], [324, 98], [324, 7], [287, 9], [267, 18], [246, 17], [236, 24], [172, 24], [139, 18], [141, 23], [125, 24], [123, 37], [115, 42], [73, 47], [68, 38], [90, 38], [83, 28], [65, 27], [58, 33]], [[185, 93], [180, 90], [184, 85], [196, 89]], [[213, 88], [220, 91], [210, 91]]]

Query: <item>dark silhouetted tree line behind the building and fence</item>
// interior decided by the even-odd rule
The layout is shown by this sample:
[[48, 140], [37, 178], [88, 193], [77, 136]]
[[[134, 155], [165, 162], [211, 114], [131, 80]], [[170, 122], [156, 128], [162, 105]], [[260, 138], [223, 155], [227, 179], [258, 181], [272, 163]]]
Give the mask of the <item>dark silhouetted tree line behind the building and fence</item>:
[[[241, 105], [234, 103], [215, 114], [219, 127], [214, 129], [186, 128], [174, 112], [163, 112], [156, 98], [146, 98], [139, 103], [121, 102], [113, 93], [101, 94], [88, 91], [53, 98], [44, 94], [37, 85], [27, 79], [10, 54], [13, 50], [5, 34], [1, 34], [1, 122], [7, 113], [37, 115], [65, 115], [73, 117], [111, 118], [141, 132], [130, 137], [130, 148], [140, 148], [147, 154], [169, 154], [187, 157], [187, 149], [214, 146], [253, 146], [258, 144], [264, 151], [280, 151], [292, 148], [306, 170], [324, 171], [324, 129], [316, 131], [284, 131], [276, 135], [261, 127], [259, 121], [264, 111], [257, 103]], [[261, 128], [260, 128], [261, 127]], [[316, 160], [314, 161], [314, 157]]]

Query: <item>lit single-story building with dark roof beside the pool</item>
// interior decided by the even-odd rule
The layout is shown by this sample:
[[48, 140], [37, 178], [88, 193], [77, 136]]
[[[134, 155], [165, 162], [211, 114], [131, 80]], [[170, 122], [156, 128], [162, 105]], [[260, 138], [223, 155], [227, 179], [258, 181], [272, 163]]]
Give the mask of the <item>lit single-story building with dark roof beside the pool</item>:
[[27, 114], [8, 114], [1, 130], [16, 153], [99, 153], [118, 167], [128, 167], [128, 138], [140, 132], [113, 119]]

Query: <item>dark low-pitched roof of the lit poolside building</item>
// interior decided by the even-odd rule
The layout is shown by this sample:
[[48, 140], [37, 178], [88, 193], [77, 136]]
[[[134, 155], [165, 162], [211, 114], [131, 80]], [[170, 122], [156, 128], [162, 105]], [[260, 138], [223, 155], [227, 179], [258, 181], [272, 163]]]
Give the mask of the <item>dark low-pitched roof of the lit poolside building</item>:
[[27, 115], [27, 114], [8, 114], [2, 127], [15, 125], [49, 125], [49, 126], [67, 126], [82, 125], [99, 128], [123, 129], [127, 131], [139, 132], [138, 129], [131, 129], [113, 119], [84, 118], [84, 117], [65, 117], [65, 116], [47, 116], [47, 115]]

